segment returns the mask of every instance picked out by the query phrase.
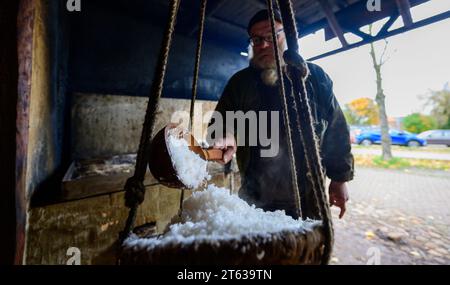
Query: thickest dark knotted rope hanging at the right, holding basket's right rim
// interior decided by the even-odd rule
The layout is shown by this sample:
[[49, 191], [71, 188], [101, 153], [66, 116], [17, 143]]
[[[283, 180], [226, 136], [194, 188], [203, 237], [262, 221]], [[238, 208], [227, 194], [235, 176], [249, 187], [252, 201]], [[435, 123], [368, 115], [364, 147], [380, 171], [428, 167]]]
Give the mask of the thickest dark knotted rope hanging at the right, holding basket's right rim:
[[[292, 84], [292, 91], [294, 92], [294, 95], [297, 95], [294, 96], [298, 103], [296, 105], [300, 108], [297, 111], [297, 119], [299, 119], [297, 120], [297, 124], [300, 130], [300, 139], [304, 149], [304, 157], [308, 169], [306, 178], [313, 186], [312, 189], [315, 196], [316, 207], [319, 209], [324, 226], [325, 248], [322, 256], [322, 264], [328, 264], [334, 242], [333, 225], [325, 194], [325, 179], [319, 154], [319, 143], [313, 128], [311, 107], [309, 105], [308, 95], [305, 88], [308, 68], [301, 56], [298, 55], [298, 32], [292, 3], [290, 0], [277, 1], [280, 7], [288, 44], [288, 51], [285, 52], [285, 60], [288, 63], [288, 77]], [[271, 7], [269, 7], [269, 9], [270, 8]], [[294, 58], [296, 59], [295, 61], [293, 60]]]

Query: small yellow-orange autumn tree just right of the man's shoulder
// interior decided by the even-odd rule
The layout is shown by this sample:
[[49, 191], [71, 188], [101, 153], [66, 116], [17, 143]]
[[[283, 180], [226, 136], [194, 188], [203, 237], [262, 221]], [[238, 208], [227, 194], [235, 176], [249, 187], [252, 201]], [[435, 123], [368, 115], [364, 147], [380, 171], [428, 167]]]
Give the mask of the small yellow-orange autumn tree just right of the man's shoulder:
[[344, 107], [344, 115], [351, 125], [378, 125], [379, 110], [377, 104], [370, 98], [358, 98]]

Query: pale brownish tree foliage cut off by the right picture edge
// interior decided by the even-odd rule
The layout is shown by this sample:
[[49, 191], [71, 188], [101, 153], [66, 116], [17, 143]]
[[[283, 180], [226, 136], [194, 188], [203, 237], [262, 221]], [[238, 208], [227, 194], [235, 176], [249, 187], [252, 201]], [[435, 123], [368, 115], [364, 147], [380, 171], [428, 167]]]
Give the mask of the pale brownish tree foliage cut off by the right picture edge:
[[430, 91], [426, 105], [431, 107], [431, 115], [436, 119], [437, 127], [450, 129], [450, 88], [448, 83], [442, 90]]

